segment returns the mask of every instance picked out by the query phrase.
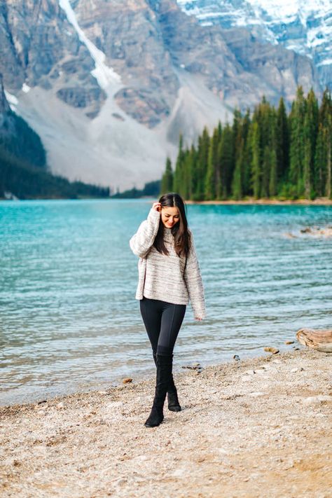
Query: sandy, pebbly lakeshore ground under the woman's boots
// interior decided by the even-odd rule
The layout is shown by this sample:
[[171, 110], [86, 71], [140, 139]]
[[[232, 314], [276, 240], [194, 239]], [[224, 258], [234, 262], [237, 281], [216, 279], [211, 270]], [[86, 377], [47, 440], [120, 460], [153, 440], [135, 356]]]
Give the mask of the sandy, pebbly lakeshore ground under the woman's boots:
[[153, 380], [2, 407], [0, 495], [331, 497], [331, 359], [183, 370], [183, 410], [153, 429]]

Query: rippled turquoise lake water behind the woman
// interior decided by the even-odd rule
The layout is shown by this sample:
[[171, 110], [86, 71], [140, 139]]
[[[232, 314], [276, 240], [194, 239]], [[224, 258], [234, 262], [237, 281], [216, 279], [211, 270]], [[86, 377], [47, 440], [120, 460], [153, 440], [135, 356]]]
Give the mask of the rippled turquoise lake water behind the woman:
[[[1, 405], [154, 373], [129, 239], [152, 200], [0, 202]], [[188, 305], [174, 366], [291, 350], [332, 324], [332, 207], [188, 205], [207, 318]], [[291, 234], [291, 235], [289, 235]]]

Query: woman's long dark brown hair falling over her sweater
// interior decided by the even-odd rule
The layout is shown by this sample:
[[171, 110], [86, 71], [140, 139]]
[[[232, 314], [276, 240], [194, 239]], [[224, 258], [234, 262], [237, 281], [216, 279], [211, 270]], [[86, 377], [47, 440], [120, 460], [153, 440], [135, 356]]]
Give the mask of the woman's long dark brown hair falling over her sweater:
[[[187, 256], [191, 246], [191, 235], [188, 232], [188, 221], [186, 216], [186, 206], [184, 200], [177, 193], [171, 192], [162, 195], [159, 199], [161, 207], [177, 207], [179, 209], [179, 221], [172, 226], [172, 235], [174, 235], [174, 249], [178, 256]], [[158, 233], [155, 236], [153, 246], [157, 251], [168, 255], [164, 242], [164, 223], [160, 218]]]

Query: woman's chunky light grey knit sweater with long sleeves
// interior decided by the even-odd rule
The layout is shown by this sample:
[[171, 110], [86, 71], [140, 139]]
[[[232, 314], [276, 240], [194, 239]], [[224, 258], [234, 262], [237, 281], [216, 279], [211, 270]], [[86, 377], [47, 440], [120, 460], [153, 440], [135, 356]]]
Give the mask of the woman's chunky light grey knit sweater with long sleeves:
[[132, 252], [139, 256], [136, 299], [144, 296], [174, 304], [188, 304], [190, 299], [195, 318], [205, 318], [204, 290], [193, 234], [190, 232], [191, 249], [185, 264], [186, 258], [179, 257], [174, 249], [171, 228], [164, 227], [169, 254], [160, 254], [153, 246], [159, 223], [160, 212], [151, 208], [148, 218], [130, 239]]

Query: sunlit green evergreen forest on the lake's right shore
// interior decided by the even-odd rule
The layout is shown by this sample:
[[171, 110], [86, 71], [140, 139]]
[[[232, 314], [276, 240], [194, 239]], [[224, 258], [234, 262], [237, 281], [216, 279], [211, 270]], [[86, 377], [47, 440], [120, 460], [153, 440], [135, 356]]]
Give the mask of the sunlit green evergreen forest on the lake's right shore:
[[202, 130], [195, 144], [179, 139], [172, 168], [167, 158], [160, 193], [186, 200], [331, 199], [331, 92], [319, 104], [298, 87], [287, 112], [263, 97], [254, 111], [235, 110], [233, 123]]

